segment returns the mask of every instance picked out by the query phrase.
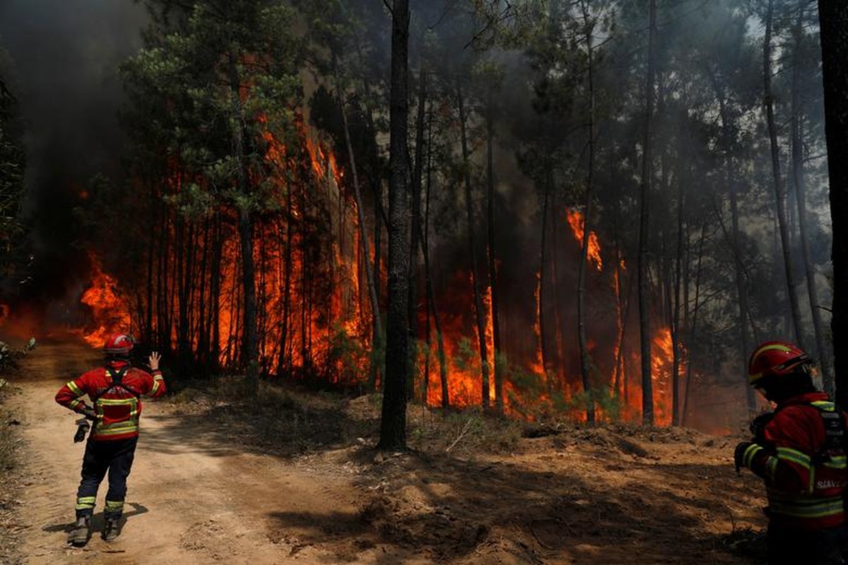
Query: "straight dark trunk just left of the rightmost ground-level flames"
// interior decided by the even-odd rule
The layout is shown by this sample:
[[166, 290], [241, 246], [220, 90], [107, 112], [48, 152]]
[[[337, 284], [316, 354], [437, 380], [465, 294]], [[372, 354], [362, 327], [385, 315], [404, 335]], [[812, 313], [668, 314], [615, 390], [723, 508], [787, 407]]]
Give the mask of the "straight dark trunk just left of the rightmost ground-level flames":
[[642, 373], [642, 423], [654, 424], [654, 391], [650, 366], [650, 286], [648, 280], [648, 228], [650, 226], [650, 185], [652, 175], [651, 121], [654, 114], [654, 73], [656, 66], [656, 0], [650, 0], [648, 30], [648, 73], [645, 80], [644, 140], [642, 145], [642, 186], [639, 204], [639, 351]]

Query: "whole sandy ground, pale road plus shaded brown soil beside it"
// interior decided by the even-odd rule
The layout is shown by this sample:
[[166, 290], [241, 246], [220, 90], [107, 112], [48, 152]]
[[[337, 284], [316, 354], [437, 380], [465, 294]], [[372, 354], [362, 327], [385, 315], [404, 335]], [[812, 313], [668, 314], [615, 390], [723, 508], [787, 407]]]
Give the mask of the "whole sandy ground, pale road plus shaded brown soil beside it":
[[297, 449], [283, 449], [226, 407], [187, 402], [202, 396], [191, 390], [145, 403], [120, 538], [99, 537], [103, 486], [96, 533], [73, 548], [83, 444], [53, 395], [98, 357], [46, 341], [14, 380], [25, 439], [20, 503], [5, 524], [20, 544], [14, 562], [757, 562], [745, 554], [765, 524], [764, 496], [734, 472], [741, 436], [566, 426], [483, 445], [473, 428], [460, 437], [416, 407], [415, 451], [383, 456], [371, 447], [374, 402], [360, 398], [281, 413], [298, 435]]

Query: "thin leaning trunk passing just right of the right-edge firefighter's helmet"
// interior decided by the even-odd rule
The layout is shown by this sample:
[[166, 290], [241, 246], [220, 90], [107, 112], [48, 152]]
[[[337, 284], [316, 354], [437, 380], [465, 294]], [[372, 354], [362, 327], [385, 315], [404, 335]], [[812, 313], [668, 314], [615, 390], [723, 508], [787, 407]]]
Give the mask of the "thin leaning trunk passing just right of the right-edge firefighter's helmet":
[[803, 108], [801, 107], [801, 37], [803, 34], [804, 7], [802, 2], [798, 8], [798, 16], [795, 20], [795, 57], [792, 65], [792, 178], [795, 181], [795, 200], [798, 204], [798, 230], [801, 236], [801, 254], [804, 258], [804, 271], [806, 274], [806, 292], [810, 301], [810, 312], [812, 314], [812, 329], [816, 339], [816, 357], [818, 367], [822, 371], [824, 390], [833, 394], [834, 379], [830, 373], [830, 355], [824, 346], [824, 331], [822, 327], [822, 313], [818, 307], [818, 285], [816, 282], [816, 269], [812, 265], [810, 257], [810, 241], [806, 231], [806, 182], [804, 180], [804, 134], [803, 134]]

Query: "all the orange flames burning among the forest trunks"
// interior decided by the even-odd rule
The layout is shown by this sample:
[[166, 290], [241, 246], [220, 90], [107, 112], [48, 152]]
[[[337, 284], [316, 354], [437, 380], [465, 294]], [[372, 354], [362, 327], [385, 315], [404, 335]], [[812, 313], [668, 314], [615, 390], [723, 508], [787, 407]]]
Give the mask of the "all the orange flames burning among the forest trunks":
[[[259, 115], [257, 120], [265, 147], [264, 169], [251, 169], [249, 174], [254, 181], [262, 180], [276, 200], [276, 208], [283, 212], [259, 216], [253, 226], [251, 248], [256, 270], [259, 371], [267, 375], [317, 378], [335, 385], [363, 387], [372, 375], [373, 313], [364, 291], [362, 265], [373, 258], [365, 258], [362, 252], [357, 202], [349, 194], [348, 178], [328, 144], [304, 125], [302, 118], [288, 146], [268, 128], [263, 116]], [[179, 164], [173, 163], [173, 166]], [[171, 178], [174, 179], [170, 182], [171, 191], [184, 190], [181, 174], [175, 173]], [[222, 208], [218, 213], [225, 220], [220, 228], [220, 239], [207, 241], [198, 236], [198, 230], [189, 231], [181, 237], [193, 237], [190, 251], [174, 246], [165, 251], [164, 258], [158, 259], [164, 275], [179, 278], [168, 283], [175, 285], [177, 291], [170, 297], [167, 294], [157, 296], [156, 300], [158, 303], [170, 301], [163, 302], [170, 304], [169, 311], [188, 316], [188, 328], [214, 332], [209, 339], [215, 347], [217, 363], [220, 367], [233, 367], [242, 362], [243, 246], [234, 229], [232, 210]], [[581, 244], [583, 214], [568, 209], [566, 219], [575, 241]], [[228, 226], [226, 222], [232, 224]], [[171, 236], [177, 241], [179, 225], [175, 222], [170, 228], [174, 230]], [[373, 249], [373, 241], [369, 244]], [[194, 270], [198, 264], [213, 261], [216, 253], [220, 254], [220, 259], [214, 263], [218, 265], [216, 269]], [[589, 233], [588, 260], [594, 266], [597, 280], [614, 277], [614, 295], [620, 303], [619, 269], [614, 274], [604, 272], [600, 239], [594, 231]], [[623, 263], [620, 270], [624, 270]], [[385, 272], [380, 276], [385, 277]], [[430, 406], [471, 407], [481, 403], [494, 406], [497, 370], [503, 384], [501, 400], [505, 413], [510, 416], [533, 419], [540, 413], [564, 411], [576, 420], [585, 418], [580, 400], [583, 389], [575, 363], [577, 340], [572, 338], [571, 330], [566, 330], [572, 320], [563, 314], [561, 319], [555, 317], [550, 324], [553, 339], [548, 339], [554, 345], [550, 358], [545, 358], [540, 274], [536, 275], [536, 282], [533, 352], [509, 358], [506, 353], [514, 344], [505, 344], [506, 352], [501, 352], [505, 361], [497, 368], [492, 293], [490, 287], [483, 289], [481, 300], [487, 352], [484, 363], [488, 365], [488, 399], [483, 402], [483, 366], [477, 324], [473, 308], [468, 307], [471, 276], [467, 270], [453, 275], [448, 285], [449, 296], [438, 297], [438, 301], [448, 303], [441, 311], [441, 335], [418, 336], [427, 341], [419, 347], [415, 371], [415, 388], [422, 400]], [[218, 296], [217, 302], [206, 306], [200, 301], [211, 292]], [[92, 308], [94, 329], [86, 331], [85, 337], [94, 346], [102, 344], [110, 331], [128, 328], [131, 324], [117, 281], [103, 272], [96, 258], [92, 258], [91, 288], [81, 302]], [[429, 314], [427, 308], [424, 311]], [[617, 314], [617, 320], [612, 324], [617, 325], [615, 333], [621, 334], [622, 313]], [[175, 349], [186, 343], [180, 327], [170, 318], [152, 319], [149, 323], [159, 335], [170, 335]], [[170, 325], [159, 327], [163, 323]], [[667, 330], [660, 330], [654, 340], [652, 368], [658, 423], [670, 420], [667, 399], [670, 397], [668, 368], [672, 357], [668, 335]], [[444, 347], [444, 366], [438, 355], [439, 340]], [[203, 343], [202, 335], [187, 336], [187, 344], [192, 349], [198, 349]], [[608, 371], [608, 377], [595, 386], [620, 398], [622, 417], [636, 419], [641, 406], [636, 383], [639, 356], [638, 352], [628, 349], [628, 356], [622, 357], [620, 346], [621, 338], [601, 338], [592, 342], [593, 357], [597, 357], [599, 367]], [[609, 362], [605, 357], [614, 361]], [[425, 374], [430, 375], [426, 384]], [[443, 398], [445, 391], [447, 402]]]

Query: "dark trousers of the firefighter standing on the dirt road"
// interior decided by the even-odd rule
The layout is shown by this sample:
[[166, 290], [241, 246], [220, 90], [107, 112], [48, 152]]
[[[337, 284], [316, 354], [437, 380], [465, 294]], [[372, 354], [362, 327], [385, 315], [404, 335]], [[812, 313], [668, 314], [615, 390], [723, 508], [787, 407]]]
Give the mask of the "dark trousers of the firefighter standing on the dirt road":
[[109, 473], [109, 490], [106, 491], [106, 507], [103, 515], [120, 518], [124, 512], [126, 478], [130, 475], [132, 459], [136, 455], [138, 437], [126, 440], [94, 441], [86, 443], [86, 454], [82, 457], [82, 479], [76, 491], [76, 517], [91, 516], [98, 486]]

